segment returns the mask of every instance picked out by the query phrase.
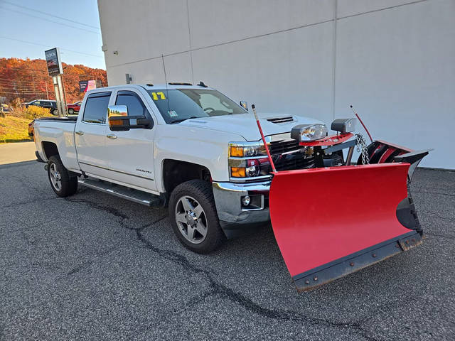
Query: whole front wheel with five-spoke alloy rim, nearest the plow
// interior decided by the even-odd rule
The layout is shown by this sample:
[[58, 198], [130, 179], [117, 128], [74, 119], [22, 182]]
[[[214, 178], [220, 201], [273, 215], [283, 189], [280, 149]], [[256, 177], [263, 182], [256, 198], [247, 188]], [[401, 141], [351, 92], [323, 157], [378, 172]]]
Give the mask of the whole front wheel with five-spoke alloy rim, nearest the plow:
[[178, 185], [169, 199], [169, 217], [176, 237], [191, 251], [207, 254], [225, 239], [212, 186], [206, 181], [190, 180]]

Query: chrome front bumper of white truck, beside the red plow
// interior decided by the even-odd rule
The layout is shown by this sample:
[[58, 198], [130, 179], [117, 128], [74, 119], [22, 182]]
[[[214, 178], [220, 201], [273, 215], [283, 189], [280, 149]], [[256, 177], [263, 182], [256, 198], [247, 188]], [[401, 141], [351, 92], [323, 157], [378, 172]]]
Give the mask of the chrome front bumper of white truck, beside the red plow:
[[[218, 183], [213, 182], [213, 196], [220, 225], [226, 237], [233, 237], [236, 229], [245, 225], [269, 222], [270, 180], [261, 183]], [[242, 197], [256, 196], [262, 205], [242, 207]]]

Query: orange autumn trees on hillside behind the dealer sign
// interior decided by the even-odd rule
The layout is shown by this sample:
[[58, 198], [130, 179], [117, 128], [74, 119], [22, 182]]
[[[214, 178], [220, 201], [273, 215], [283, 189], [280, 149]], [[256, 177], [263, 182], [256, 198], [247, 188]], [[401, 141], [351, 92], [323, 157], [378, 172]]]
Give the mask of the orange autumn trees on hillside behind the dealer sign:
[[[105, 70], [78, 64], [62, 64], [63, 85], [68, 103], [77, 102], [84, 97], [84, 93], [79, 90], [80, 80], [100, 80], [103, 87], [107, 86]], [[16, 98], [25, 102], [33, 99], [55, 99], [52, 77], [48, 75], [45, 60], [0, 58], [0, 97], [6, 97], [5, 102]]]

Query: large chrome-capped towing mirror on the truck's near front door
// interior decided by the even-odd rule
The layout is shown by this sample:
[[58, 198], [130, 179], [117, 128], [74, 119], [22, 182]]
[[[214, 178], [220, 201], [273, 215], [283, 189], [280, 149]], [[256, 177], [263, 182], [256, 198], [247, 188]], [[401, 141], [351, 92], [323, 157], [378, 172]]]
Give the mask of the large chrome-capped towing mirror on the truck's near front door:
[[144, 115], [129, 116], [126, 105], [109, 105], [107, 107], [107, 119], [109, 120], [109, 129], [112, 131], [151, 128], [151, 121]]

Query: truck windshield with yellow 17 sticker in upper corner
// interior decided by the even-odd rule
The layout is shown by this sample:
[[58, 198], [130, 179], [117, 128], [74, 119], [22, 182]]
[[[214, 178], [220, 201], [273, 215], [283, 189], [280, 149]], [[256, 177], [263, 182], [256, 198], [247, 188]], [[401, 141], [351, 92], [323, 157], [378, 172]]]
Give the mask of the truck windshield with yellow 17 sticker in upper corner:
[[168, 124], [199, 117], [247, 113], [240, 105], [216, 90], [163, 89], [148, 92]]

